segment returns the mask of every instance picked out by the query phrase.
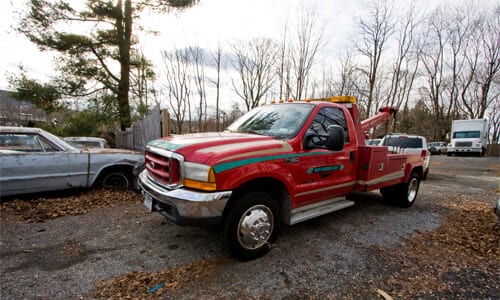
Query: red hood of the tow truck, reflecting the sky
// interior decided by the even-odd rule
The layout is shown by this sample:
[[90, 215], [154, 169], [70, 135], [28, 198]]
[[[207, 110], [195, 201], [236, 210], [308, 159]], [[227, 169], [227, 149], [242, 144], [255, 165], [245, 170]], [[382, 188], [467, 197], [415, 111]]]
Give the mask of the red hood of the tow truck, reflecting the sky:
[[151, 141], [148, 146], [175, 151], [186, 161], [208, 165], [292, 151], [284, 140], [231, 132], [173, 135]]

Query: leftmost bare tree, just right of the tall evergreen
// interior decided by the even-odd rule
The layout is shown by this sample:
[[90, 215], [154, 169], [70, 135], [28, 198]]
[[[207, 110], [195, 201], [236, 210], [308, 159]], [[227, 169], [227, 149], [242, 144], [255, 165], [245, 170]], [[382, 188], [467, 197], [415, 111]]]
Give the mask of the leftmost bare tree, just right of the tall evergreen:
[[189, 53], [187, 49], [175, 48], [171, 52], [163, 51], [162, 59], [168, 101], [176, 120], [177, 133], [182, 133], [186, 112], [190, 110]]

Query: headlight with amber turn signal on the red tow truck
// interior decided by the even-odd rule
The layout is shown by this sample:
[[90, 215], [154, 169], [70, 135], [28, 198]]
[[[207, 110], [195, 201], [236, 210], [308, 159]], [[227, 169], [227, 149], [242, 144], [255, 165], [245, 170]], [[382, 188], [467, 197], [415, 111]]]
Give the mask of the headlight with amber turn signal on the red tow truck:
[[184, 162], [183, 173], [183, 184], [185, 187], [204, 191], [215, 191], [217, 188], [215, 172], [210, 166]]

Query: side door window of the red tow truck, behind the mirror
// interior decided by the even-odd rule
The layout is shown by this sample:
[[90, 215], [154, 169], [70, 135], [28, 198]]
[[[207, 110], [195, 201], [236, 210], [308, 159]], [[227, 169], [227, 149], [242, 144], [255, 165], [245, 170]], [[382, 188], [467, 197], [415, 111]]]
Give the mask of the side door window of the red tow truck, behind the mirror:
[[339, 125], [344, 129], [344, 141], [349, 143], [349, 131], [344, 112], [336, 107], [323, 107], [309, 126], [309, 132], [320, 136], [328, 136], [328, 126]]

